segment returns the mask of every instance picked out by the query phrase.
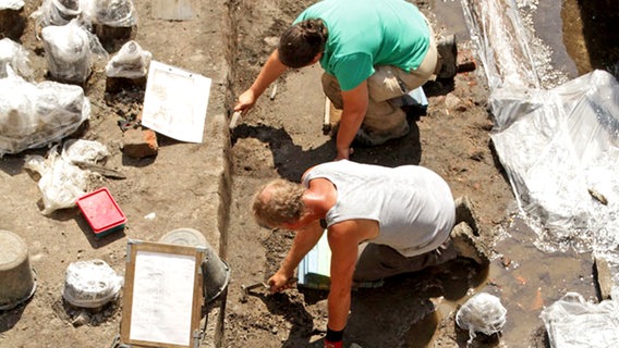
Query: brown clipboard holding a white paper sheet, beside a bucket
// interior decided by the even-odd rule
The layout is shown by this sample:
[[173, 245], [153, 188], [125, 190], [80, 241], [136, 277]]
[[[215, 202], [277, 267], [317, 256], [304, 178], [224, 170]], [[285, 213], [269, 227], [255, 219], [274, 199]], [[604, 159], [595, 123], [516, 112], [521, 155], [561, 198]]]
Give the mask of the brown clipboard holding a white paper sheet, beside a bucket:
[[129, 240], [119, 347], [199, 347], [206, 249]]

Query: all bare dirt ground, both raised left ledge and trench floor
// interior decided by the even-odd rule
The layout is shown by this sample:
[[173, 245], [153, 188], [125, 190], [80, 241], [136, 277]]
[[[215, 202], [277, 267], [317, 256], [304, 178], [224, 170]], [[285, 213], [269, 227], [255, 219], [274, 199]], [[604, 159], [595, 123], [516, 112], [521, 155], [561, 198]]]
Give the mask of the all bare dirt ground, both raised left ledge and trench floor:
[[[36, 10], [38, 2], [28, 3], [24, 16]], [[61, 297], [64, 272], [71, 262], [102, 259], [122, 274], [128, 238], [157, 240], [182, 226], [203, 231], [209, 241], [220, 240], [216, 235], [219, 232], [207, 229], [213, 224], [205, 221], [221, 219], [214, 212], [220, 209], [214, 202], [221, 197], [214, 188], [218, 183], [213, 183], [221, 176], [210, 171], [211, 164], [226, 160], [228, 140], [220, 138], [217, 115], [229, 114], [233, 96], [251, 85], [279, 34], [312, 3], [206, 1], [196, 7], [194, 21], [167, 22], [153, 20], [147, 2], [137, 1], [139, 26], [134, 38], [154, 59], [214, 79], [205, 144], [159, 136], [156, 158], [123, 156], [118, 121], [139, 113], [144, 91], [106, 94], [102, 71], [95, 70], [85, 86], [93, 103], [92, 119], [76, 137], [110, 148], [106, 165], [123, 172], [126, 178], [101, 178], [98, 185], [110, 188], [131, 222], [122, 234], [101, 240], [92, 236], [76, 209], [41, 215], [40, 192], [23, 163], [25, 154], [45, 154], [45, 149], [0, 160], [0, 192], [5, 202], [0, 228], [26, 240], [38, 278], [31, 301], [0, 313], [0, 347], [108, 347], [119, 333], [120, 301], [76, 321], [81, 311]], [[417, 4], [438, 35], [449, 33], [448, 23], [434, 20], [430, 3]], [[45, 51], [32, 21], [27, 21], [19, 40], [33, 52], [36, 79], [45, 79]], [[108, 46], [111, 52], [119, 42], [112, 44]], [[465, 52], [470, 45], [461, 41], [459, 48]], [[307, 167], [336, 157], [333, 139], [323, 133], [320, 73], [319, 66], [313, 66], [286, 74], [277, 82], [275, 98], [270, 99], [271, 90], [267, 90], [231, 133], [230, 220], [228, 228], [221, 231], [221, 245], [214, 246], [232, 270], [224, 301], [223, 347], [321, 347], [326, 293], [293, 288], [241, 301], [241, 285], [268, 278], [293, 237], [290, 232], [271, 232], [254, 223], [248, 202], [255, 189], [276, 177], [299, 181]], [[411, 113], [412, 130], [406, 137], [377, 148], [355, 147], [351, 159], [387, 166], [421, 164], [436, 171], [450, 184], [454, 197], [468, 195], [473, 200], [482, 237], [493, 245], [497, 226], [508, 219], [513, 195], [491, 151], [493, 122], [482, 71], [461, 73], [452, 83], [426, 87], [427, 114]], [[150, 213], [156, 213], [154, 220], [145, 217]], [[486, 285], [486, 273], [457, 261], [436, 274], [399, 276], [388, 279], [383, 288], [355, 291], [347, 346], [464, 346], [468, 334], [457, 328], [452, 309], [472, 294], [471, 289]], [[205, 347], [215, 345], [204, 343]], [[488, 345], [495, 344], [489, 340]]]

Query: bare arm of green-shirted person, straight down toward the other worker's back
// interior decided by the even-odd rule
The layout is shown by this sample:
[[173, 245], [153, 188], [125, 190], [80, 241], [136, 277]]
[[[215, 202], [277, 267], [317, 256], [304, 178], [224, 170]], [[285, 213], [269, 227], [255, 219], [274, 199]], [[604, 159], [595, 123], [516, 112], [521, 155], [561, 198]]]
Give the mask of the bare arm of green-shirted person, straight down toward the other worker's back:
[[363, 117], [367, 112], [367, 80], [351, 90], [342, 91], [343, 110], [340, 120], [340, 128], [336, 140], [338, 149], [337, 160], [348, 159], [350, 146], [354, 140], [356, 132], [363, 123]]

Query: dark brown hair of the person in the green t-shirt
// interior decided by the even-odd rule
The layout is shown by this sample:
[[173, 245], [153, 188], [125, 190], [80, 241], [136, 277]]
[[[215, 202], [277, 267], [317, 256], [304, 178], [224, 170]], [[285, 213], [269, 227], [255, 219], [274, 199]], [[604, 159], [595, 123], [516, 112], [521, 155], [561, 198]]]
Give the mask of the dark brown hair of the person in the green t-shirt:
[[323, 20], [299, 22], [283, 32], [279, 40], [279, 60], [289, 67], [310, 65], [323, 52], [327, 41], [327, 27]]

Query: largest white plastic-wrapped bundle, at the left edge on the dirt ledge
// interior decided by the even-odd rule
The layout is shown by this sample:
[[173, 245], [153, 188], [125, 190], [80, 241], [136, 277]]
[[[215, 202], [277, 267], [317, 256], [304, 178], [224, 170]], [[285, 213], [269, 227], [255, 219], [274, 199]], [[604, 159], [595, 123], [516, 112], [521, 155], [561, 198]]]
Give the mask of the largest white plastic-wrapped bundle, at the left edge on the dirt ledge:
[[0, 157], [60, 141], [90, 116], [82, 87], [0, 78]]

